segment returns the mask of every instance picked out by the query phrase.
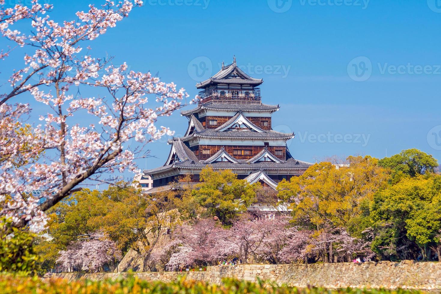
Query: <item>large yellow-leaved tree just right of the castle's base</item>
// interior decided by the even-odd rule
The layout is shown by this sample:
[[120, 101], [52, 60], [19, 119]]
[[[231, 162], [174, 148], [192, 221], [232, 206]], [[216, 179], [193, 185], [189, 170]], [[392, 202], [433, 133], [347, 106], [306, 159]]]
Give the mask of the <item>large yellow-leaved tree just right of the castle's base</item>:
[[[292, 223], [314, 230], [314, 236], [351, 227], [374, 194], [388, 185], [387, 171], [370, 156], [350, 156], [348, 164], [314, 164], [303, 175], [279, 183], [278, 197], [292, 209]], [[322, 259], [333, 261], [333, 242], [324, 246]]]

